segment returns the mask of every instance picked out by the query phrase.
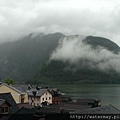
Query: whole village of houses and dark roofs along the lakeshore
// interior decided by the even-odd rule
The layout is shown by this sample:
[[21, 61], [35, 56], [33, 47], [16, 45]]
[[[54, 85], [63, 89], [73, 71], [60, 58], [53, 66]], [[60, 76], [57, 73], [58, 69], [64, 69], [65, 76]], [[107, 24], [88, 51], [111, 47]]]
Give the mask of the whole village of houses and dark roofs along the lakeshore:
[[120, 114], [120, 110], [92, 98], [73, 101], [57, 88], [0, 83], [0, 120], [59, 120], [56, 116], [74, 114]]

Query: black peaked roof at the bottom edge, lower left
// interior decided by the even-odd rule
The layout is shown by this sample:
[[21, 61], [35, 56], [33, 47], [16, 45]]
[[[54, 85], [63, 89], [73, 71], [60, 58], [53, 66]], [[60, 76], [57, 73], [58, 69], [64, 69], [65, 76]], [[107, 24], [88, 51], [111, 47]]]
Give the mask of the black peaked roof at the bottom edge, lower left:
[[34, 109], [28, 109], [22, 107], [15, 114], [11, 115], [8, 120], [34, 120], [33, 115], [35, 115], [36, 111]]

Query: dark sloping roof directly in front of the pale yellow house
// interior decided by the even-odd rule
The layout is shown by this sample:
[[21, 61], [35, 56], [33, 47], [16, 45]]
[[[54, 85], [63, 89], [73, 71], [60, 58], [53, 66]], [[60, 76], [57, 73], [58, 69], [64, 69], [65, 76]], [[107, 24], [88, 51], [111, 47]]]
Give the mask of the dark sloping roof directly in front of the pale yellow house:
[[11, 113], [15, 113], [19, 110], [15, 100], [13, 99], [12, 95], [10, 93], [0, 93], [0, 99], [6, 100], [8, 103], [10, 103], [12, 106], [10, 107]]

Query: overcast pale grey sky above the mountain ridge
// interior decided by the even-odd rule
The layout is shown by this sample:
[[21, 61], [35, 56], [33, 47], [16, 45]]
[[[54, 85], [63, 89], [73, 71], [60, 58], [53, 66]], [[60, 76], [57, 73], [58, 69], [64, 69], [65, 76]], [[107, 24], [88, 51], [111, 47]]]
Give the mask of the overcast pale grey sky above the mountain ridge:
[[0, 0], [0, 42], [31, 32], [95, 35], [120, 45], [120, 0]]

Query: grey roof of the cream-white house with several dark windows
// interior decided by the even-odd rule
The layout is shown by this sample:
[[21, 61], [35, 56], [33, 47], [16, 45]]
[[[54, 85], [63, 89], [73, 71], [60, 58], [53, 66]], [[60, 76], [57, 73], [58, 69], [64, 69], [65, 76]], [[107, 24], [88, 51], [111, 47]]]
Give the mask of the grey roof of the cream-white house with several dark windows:
[[[36, 92], [36, 95], [35, 96], [42, 96], [46, 91], [48, 91], [47, 89], [40, 89], [40, 90], [36, 90], [36, 89], [31, 89], [29, 92], [28, 92], [28, 95], [29, 96], [34, 96], [33, 95], [33, 92]], [[48, 91], [49, 92], [49, 91]], [[50, 92], [49, 92], [50, 93]]]

